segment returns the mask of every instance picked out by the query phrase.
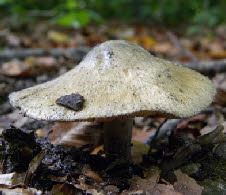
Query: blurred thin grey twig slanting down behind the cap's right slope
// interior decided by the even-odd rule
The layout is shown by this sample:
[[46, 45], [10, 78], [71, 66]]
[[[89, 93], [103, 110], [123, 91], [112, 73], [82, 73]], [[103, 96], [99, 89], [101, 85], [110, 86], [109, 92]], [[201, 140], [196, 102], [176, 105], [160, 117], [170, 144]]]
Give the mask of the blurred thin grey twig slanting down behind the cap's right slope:
[[190, 51], [186, 50], [178, 40], [175, 34], [170, 31], [167, 31], [166, 34], [168, 35], [170, 41], [175, 45], [175, 47], [181, 52], [183, 56], [188, 57], [193, 62], [198, 62], [197, 57], [195, 57]]

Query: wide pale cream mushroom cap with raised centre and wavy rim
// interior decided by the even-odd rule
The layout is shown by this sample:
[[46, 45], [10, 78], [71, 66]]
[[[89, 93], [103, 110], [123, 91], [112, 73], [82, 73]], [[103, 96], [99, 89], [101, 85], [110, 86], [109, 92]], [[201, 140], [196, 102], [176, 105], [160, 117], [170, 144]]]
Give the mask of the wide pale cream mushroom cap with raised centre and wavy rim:
[[[56, 104], [78, 93], [84, 107], [74, 111]], [[213, 100], [216, 89], [198, 72], [156, 58], [134, 43], [106, 41], [78, 66], [43, 84], [11, 93], [10, 103], [31, 118], [48, 121], [103, 121], [159, 114], [185, 118]]]

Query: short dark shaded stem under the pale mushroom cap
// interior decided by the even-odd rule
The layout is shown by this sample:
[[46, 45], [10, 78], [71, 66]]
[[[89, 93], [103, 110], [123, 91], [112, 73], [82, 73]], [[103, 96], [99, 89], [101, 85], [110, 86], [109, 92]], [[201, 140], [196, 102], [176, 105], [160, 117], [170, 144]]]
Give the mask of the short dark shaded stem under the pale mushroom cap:
[[133, 119], [115, 119], [103, 126], [106, 157], [130, 161]]

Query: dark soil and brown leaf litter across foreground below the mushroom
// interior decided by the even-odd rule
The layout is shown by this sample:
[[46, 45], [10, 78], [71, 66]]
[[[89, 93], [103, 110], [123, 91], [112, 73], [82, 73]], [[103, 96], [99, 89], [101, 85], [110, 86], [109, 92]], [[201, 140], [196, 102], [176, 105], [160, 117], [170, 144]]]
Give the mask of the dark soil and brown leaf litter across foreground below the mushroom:
[[[206, 186], [214, 185], [219, 179], [224, 186], [223, 173], [220, 173], [224, 161], [212, 152], [225, 140], [222, 130], [219, 126], [190, 143], [176, 136], [170, 138], [174, 144], [152, 146], [149, 156], [144, 156], [139, 165], [112, 165], [98, 154], [91, 155], [82, 148], [52, 145], [37, 137], [34, 131], [12, 126], [3, 131], [0, 139], [0, 160], [5, 173], [1, 177], [6, 176], [5, 182], [9, 182], [7, 185], [1, 183], [0, 177], [0, 184], [71, 194], [90, 190], [94, 194], [201, 194]], [[156, 152], [162, 155], [156, 156]], [[198, 163], [198, 166], [194, 169], [191, 163]], [[214, 164], [219, 163], [221, 166], [216, 169]], [[150, 167], [150, 164], [155, 166]], [[177, 169], [180, 167], [184, 173]], [[19, 175], [23, 176], [22, 180], [17, 178]], [[208, 183], [206, 178], [212, 180]], [[215, 191], [220, 191], [216, 185], [214, 187]]]

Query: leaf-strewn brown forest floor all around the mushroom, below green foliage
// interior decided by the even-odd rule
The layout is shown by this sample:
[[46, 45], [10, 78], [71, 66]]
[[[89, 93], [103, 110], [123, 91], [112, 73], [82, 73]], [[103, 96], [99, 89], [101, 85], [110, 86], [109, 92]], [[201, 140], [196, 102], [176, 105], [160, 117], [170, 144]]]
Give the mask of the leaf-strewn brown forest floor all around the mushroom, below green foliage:
[[[2, 193], [225, 194], [226, 26], [193, 36], [181, 31], [117, 23], [77, 30], [45, 23], [0, 27]], [[9, 93], [62, 75], [111, 39], [192, 67], [217, 88], [209, 108], [172, 121], [173, 127], [160, 117], [135, 118], [130, 164], [105, 159], [98, 123], [37, 121], [8, 101]], [[171, 133], [153, 140], [162, 123]]]

